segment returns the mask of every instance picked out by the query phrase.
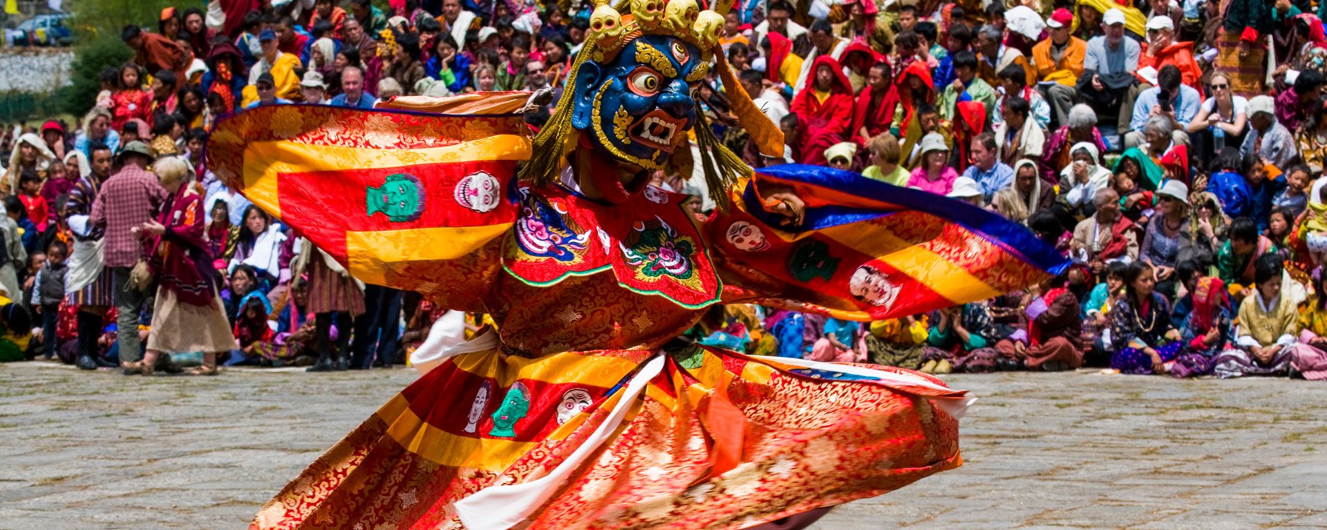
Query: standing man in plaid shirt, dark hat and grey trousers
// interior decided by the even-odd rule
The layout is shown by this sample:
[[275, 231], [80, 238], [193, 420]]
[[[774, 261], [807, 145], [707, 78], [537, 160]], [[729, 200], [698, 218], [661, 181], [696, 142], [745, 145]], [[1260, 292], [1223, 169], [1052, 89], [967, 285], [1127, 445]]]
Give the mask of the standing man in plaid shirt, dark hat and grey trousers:
[[129, 285], [129, 273], [143, 257], [143, 244], [138, 240], [131, 228], [138, 227], [157, 217], [157, 209], [166, 200], [166, 189], [157, 180], [157, 175], [147, 171], [151, 163], [151, 150], [146, 143], [129, 142], [119, 151], [119, 172], [106, 179], [101, 186], [101, 193], [92, 205], [89, 221], [101, 227], [106, 233], [106, 244], [102, 249], [102, 260], [111, 270], [115, 284], [115, 307], [119, 310], [117, 321], [119, 341], [119, 363], [126, 366], [125, 374], [131, 371], [129, 363], [142, 359], [142, 344], [138, 339], [138, 311], [147, 292], [139, 292]]

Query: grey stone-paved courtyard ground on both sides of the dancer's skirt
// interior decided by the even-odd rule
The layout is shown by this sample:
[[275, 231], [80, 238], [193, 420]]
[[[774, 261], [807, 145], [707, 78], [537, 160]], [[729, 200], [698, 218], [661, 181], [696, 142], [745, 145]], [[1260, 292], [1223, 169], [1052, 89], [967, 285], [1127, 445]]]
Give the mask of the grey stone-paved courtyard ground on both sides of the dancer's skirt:
[[[235, 529], [407, 370], [125, 378], [0, 364], [0, 529]], [[1327, 529], [1327, 384], [950, 376], [966, 464], [817, 530]]]

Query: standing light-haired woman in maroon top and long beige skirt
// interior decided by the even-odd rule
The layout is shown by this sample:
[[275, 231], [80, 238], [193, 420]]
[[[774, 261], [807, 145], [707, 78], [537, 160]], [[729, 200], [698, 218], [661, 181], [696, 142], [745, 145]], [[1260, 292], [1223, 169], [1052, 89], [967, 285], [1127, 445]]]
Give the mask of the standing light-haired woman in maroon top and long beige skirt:
[[239, 348], [222, 306], [219, 276], [203, 240], [203, 196], [184, 186], [188, 166], [178, 158], [157, 160], [157, 176], [170, 193], [155, 220], [134, 228], [150, 240], [147, 262], [157, 274], [157, 302], [147, 352], [135, 367], [151, 375], [162, 352], [203, 351], [192, 375], [216, 375], [216, 352]]

